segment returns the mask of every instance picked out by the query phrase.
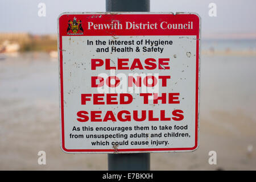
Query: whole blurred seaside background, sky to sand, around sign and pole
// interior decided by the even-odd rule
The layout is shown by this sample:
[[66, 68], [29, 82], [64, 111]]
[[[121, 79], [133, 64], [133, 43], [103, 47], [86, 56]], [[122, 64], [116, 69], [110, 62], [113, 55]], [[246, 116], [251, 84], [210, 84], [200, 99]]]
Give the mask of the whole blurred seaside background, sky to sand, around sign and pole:
[[[255, 6], [151, 0], [152, 12], [196, 12], [202, 20], [200, 146], [151, 154], [152, 170], [256, 170]], [[108, 169], [106, 154], [60, 150], [57, 16], [68, 11], [105, 11], [105, 0], [0, 1], [1, 170]], [[217, 164], [208, 163], [210, 151]]]

